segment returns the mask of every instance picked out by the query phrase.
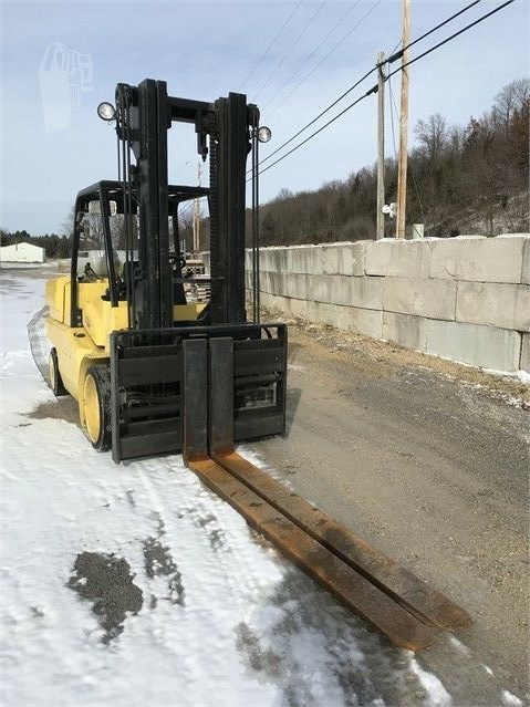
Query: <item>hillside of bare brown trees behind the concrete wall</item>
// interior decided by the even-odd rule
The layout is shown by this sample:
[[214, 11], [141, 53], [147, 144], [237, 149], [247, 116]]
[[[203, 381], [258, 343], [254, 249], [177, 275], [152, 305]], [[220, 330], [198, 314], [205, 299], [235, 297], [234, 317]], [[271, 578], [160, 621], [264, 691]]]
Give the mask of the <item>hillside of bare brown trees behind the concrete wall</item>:
[[[437, 237], [530, 230], [529, 106], [530, 82], [518, 79], [497, 94], [482, 117], [471, 117], [464, 127], [439, 114], [416, 123], [408, 162], [408, 229], [425, 223], [425, 235]], [[389, 204], [397, 191], [394, 158], [386, 160], [385, 181]], [[371, 239], [375, 209], [375, 165], [316, 191], [284, 188], [261, 208], [261, 245]], [[387, 218], [386, 236], [394, 230]]]

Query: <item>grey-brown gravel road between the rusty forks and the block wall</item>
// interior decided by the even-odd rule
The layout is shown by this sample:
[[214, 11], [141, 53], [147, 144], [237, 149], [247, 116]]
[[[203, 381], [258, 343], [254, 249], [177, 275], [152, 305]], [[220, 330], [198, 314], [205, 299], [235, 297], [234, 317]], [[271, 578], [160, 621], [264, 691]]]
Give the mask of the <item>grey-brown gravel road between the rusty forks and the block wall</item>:
[[498, 704], [501, 685], [528, 697], [528, 410], [382, 344], [290, 339], [289, 436], [253, 448], [471, 614], [420, 658], [455, 704]]

